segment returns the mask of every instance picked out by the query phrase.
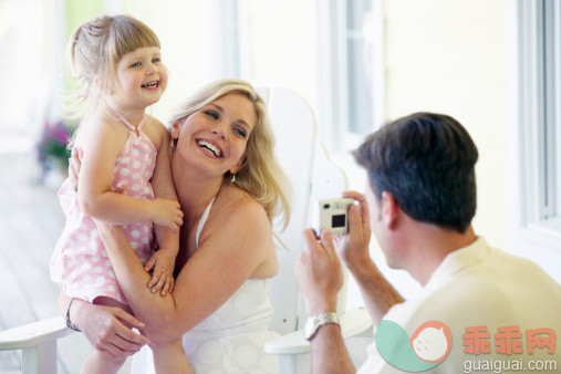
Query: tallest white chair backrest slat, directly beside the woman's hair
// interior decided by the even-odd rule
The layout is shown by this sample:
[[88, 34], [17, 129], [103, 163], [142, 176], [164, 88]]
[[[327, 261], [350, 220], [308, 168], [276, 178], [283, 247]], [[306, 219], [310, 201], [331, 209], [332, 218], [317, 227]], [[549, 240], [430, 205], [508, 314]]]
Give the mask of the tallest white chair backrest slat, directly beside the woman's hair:
[[287, 89], [260, 89], [266, 101], [277, 141], [276, 154], [292, 185], [292, 215], [284, 231], [274, 225], [274, 231], [288, 248], [278, 243], [280, 271], [271, 282], [271, 302], [274, 308], [271, 330], [281, 334], [298, 326], [299, 292], [294, 263], [302, 249], [300, 231], [308, 222], [312, 163], [315, 147], [315, 118], [301, 96]]

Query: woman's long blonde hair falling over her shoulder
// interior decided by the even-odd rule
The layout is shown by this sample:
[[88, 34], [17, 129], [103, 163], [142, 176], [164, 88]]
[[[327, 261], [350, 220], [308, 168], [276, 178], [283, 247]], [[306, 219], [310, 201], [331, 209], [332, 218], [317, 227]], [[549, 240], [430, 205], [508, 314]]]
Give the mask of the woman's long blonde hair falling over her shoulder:
[[[267, 106], [248, 82], [220, 80], [210, 83], [179, 105], [170, 118], [170, 124], [184, 122], [202, 106], [230, 93], [246, 96], [253, 104], [257, 116], [256, 126], [246, 146], [246, 160], [236, 173], [233, 184], [263, 206], [269, 221], [272, 222], [274, 217], [282, 215], [282, 228], [285, 229], [290, 220], [291, 186], [274, 156], [274, 135]], [[227, 172], [224, 176], [225, 181], [230, 183], [231, 177], [230, 172]]]

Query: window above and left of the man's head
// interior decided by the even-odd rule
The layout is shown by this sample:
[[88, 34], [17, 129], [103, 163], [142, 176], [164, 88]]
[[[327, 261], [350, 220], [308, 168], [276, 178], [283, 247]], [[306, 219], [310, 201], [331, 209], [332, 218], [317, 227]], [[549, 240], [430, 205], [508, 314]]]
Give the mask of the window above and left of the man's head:
[[383, 118], [382, 2], [318, 2], [320, 35], [320, 122], [331, 149], [350, 149]]

